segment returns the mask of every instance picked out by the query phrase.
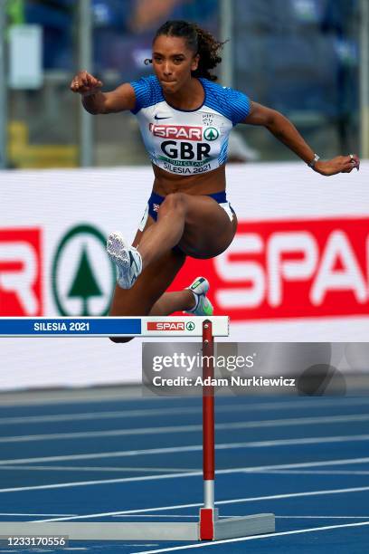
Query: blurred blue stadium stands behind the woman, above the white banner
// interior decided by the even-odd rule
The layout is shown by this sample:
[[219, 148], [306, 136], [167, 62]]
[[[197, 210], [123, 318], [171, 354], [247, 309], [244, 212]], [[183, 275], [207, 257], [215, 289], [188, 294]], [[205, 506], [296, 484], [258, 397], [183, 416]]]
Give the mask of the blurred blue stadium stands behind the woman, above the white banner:
[[[42, 30], [43, 80], [9, 89], [8, 167], [78, 167], [80, 101], [69, 90], [79, 69], [80, 0], [5, 0], [7, 38], [15, 25]], [[231, 35], [223, 36], [221, 0], [90, 0], [92, 72], [111, 90], [152, 71], [156, 28], [195, 21], [230, 39], [232, 86], [282, 111], [325, 158], [358, 150], [359, 0], [229, 0]], [[228, 58], [227, 58], [228, 59]], [[227, 83], [229, 84], [229, 83]], [[289, 160], [265, 129], [233, 131], [231, 159]], [[128, 113], [93, 120], [94, 164], [147, 164]]]

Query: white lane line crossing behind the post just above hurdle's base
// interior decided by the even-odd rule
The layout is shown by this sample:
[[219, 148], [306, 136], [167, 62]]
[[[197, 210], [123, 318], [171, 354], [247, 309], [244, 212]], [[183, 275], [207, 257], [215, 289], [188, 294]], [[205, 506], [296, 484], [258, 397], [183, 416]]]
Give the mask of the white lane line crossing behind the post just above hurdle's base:
[[[270, 501], [270, 500], [285, 500], [287, 498], [302, 498], [309, 496], [324, 496], [326, 494], [348, 494], [351, 492], [365, 492], [369, 491], [369, 487], [351, 487], [349, 489], [328, 489], [324, 491], [307, 491], [307, 492], [289, 492], [287, 494], [270, 494], [267, 496], [252, 496], [246, 498], [236, 498], [232, 500], [216, 501], [216, 506], [222, 506], [225, 504], [241, 504], [243, 502], [256, 502], [256, 501]], [[170, 510], [183, 510], [187, 508], [198, 508], [203, 506], [203, 502], [196, 502], [193, 504], [175, 504], [174, 506], [160, 506], [156, 508], [140, 508], [139, 510], [127, 510], [127, 511], [109, 511], [100, 513], [90, 513], [87, 515], [73, 516], [72, 518], [55, 518], [52, 520], [43, 521], [71, 521], [71, 520], [88, 520], [90, 518], [107, 517], [126, 515], [128, 513], [148, 513], [151, 511], [170, 511]]]

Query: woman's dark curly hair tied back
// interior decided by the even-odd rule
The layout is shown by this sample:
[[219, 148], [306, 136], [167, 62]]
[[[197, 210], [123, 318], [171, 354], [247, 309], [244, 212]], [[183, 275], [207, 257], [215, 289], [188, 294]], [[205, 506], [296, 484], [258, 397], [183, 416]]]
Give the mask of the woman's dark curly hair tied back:
[[[204, 31], [197, 24], [189, 23], [188, 21], [172, 20], [166, 21], [156, 31], [154, 41], [158, 36], [165, 34], [166, 36], [179, 36], [185, 39], [188, 48], [200, 55], [199, 65], [192, 72], [194, 77], [204, 77], [210, 81], [216, 81], [216, 75], [212, 75], [209, 70], [212, 70], [222, 62], [219, 56], [219, 51], [224, 43], [217, 41], [212, 33]], [[153, 42], [154, 42], [153, 41]]]

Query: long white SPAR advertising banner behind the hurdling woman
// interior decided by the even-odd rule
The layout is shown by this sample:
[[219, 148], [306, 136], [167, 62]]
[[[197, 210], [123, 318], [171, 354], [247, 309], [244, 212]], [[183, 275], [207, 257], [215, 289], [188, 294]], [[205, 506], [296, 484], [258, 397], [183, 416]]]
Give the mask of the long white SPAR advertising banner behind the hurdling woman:
[[[188, 260], [174, 287], [204, 274], [230, 340], [367, 341], [369, 162], [321, 177], [302, 163], [227, 169], [238, 233], [216, 259]], [[132, 240], [151, 168], [0, 173], [0, 315], [99, 316], [114, 268], [109, 232]], [[137, 382], [140, 340], [0, 339], [0, 389]]]

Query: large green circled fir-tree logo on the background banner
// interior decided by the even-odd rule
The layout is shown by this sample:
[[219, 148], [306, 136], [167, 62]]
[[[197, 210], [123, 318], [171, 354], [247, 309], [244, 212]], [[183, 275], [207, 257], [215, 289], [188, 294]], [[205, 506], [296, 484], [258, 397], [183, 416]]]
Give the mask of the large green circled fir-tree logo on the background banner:
[[105, 242], [89, 224], [72, 227], [61, 239], [52, 261], [52, 296], [62, 316], [107, 315], [116, 269]]

